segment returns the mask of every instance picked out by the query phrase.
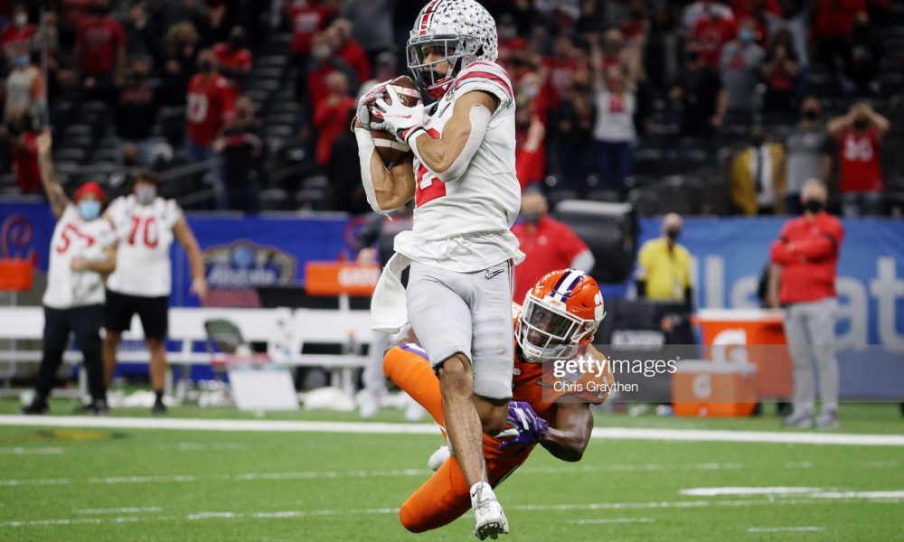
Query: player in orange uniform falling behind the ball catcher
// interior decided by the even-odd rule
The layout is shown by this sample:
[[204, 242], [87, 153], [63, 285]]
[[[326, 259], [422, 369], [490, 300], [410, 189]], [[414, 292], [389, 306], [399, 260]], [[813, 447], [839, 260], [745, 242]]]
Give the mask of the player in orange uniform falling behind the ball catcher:
[[[578, 356], [604, 360], [590, 344], [605, 315], [592, 277], [574, 269], [553, 271], [533, 286], [523, 307], [513, 305], [513, 312], [512, 427], [498, 438], [484, 435], [486, 475], [493, 487], [524, 463], [536, 444], [562, 461], [579, 461], [593, 429], [589, 406], [601, 404], [606, 388], [614, 384], [607, 365], [600, 376], [585, 372], [557, 377], [551, 364], [544, 370], [541, 363]], [[439, 380], [416, 342], [406, 328], [386, 351], [383, 369], [444, 427]], [[470, 508], [467, 483], [452, 455], [405, 500], [399, 516], [405, 528], [423, 532], [447, 525]]]

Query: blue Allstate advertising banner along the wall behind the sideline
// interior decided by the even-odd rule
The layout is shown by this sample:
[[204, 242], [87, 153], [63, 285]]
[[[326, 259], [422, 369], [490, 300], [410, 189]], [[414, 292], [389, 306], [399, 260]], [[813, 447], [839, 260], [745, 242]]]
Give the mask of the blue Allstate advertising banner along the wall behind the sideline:
[[[684, 220], [680, 242], [693, 257], [695, 306], [758, 306], [759, 276], [784, 222], [773, 218]], [[204, 252], [209, 284], [225, 293], [217, 304], [247, 305], [253, 304], [249, 292], [256, 285], [303, 282], [308, 260], [352, 258], [355, 232], [363, 219], [194, 215], [189, 223]], [[660, 224], [658, 219], [641, 220], [641, 242], [659, 235]], [[0, 257], [32, 258], [39, 269], [46, 270], [53, 225], [46, 204], [0, 201]], [[836, 328], [843, 354], [843, 394], [868, 397], [876, 391], [870, 383], [875, 378], [852, 374], [851, 355], [865, 353], [867, 345], [880, 345], [890, 363], [904, 368], [904, 221], [843, 220], [843, 225]], [[178, 246], [173, 250], [171, 302], [196, 305], [197, 298], [188, 293], [191, 277], [184, 251]], [[617, 295], [617, 285], [609, 286], [607, 294]], [[901, 390], [897, 393], [900, 396]]]

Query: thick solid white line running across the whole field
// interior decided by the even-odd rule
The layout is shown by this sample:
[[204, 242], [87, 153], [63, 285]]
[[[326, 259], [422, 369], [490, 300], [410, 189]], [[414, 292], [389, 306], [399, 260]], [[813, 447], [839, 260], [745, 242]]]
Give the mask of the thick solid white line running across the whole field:
[[[211, 420], [95, 416], [0, 416], [0, 425], [99, 427], [108, 429], [181, 429], [193, 431], [260, 431], [271, 433], [438, 435], [436, 425], [432, 424], [389, 424], [376, 422]], [[904, 435], [860, 435], [852, 433], [830, 434], [786, 431], [597, 427], [593, 430], [592, 436], [593, 438], [610, 440], [904, 446]]]

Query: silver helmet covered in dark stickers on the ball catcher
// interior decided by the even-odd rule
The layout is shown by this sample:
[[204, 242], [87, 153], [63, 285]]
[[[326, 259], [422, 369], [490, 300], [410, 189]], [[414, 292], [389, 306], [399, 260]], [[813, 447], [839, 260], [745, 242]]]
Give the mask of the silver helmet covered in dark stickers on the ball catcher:
[[[472, 61], [495, 61], [499, 39], [496, 23], [475, 0], [430, 0], [414, 21], [408, 40], [408, 68], [420, 91], [442, 98], [457, 74]], [[427, 61], [431, 51], [439, 60]], [[435, 67], [447, 61], [445, 75]]]

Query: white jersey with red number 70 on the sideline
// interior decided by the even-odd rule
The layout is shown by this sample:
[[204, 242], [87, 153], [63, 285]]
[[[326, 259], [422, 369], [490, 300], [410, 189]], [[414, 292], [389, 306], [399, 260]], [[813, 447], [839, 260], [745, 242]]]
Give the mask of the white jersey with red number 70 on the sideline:
[[172, 290], [170, 246], [182, 210], [173, 200], [141, 205], [135, 195], [117, 198], [108, 209], [119, 238], [116, 271], [107, 287], [117, 294], [159, 297]]

